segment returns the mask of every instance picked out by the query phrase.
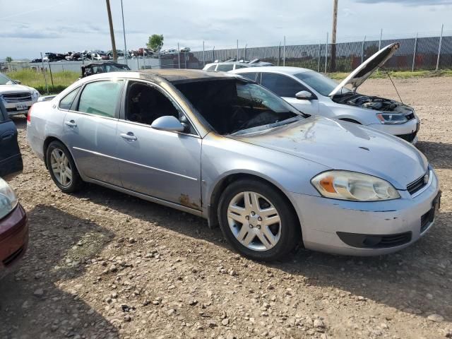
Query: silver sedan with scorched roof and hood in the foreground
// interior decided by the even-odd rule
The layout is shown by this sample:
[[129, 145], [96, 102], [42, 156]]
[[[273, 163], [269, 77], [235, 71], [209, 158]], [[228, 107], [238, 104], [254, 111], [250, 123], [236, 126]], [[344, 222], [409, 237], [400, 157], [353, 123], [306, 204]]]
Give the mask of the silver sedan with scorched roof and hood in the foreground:
[[202, 216], [259, 260], [387, 254], [434, 224], [439, 184], [414, 146], [307, 116], [231, 73], [83, 78], [30, 109], [28, 143], [66, 193], [83, 182]]

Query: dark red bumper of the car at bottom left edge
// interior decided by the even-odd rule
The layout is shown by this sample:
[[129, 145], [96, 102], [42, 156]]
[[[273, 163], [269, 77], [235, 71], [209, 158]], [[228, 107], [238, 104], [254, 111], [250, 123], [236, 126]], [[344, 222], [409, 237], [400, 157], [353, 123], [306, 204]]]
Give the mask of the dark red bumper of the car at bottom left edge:
[[0, 220], [0, 278], [11, 272], [27, 251], [28, 219], [20, 204]]

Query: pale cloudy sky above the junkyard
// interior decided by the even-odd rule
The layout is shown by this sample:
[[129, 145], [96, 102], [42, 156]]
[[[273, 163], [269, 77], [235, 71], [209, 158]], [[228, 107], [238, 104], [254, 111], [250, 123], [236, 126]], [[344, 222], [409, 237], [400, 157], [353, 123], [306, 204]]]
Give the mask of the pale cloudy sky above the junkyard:
[[[124, 49], [120, 0], [110, 0], [118, 49]], [[123, 0], [128, 49], [148, 36], [165, 48], [201, 50], [322, 42], [331, 32], [333, 0]], [[0, 59], [40, 52], [111, 49], [105, 0], [0, 0]], [[338, 42], [452, 31], [452, 0], [339, 0]], [[447, 25], [451, 25], [448, 27]]]

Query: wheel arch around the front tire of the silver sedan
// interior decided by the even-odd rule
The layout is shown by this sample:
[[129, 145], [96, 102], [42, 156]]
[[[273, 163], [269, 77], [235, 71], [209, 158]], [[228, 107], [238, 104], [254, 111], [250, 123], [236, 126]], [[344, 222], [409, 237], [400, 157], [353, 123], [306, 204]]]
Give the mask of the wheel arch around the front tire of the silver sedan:
[[268, 184], [272, 186], [274, 189], [276, 189], [280, 194], [287, 200], [288, 203], [290, 203], [290, 208], [292, 209], [292, 212], [295, 213], [295, 216], [297, 218], [297, 221], [299, 223], [299, 229], [300, 233], [302, 234], [302, 220], [299, 213], [297, 213], [297, 210], [295, 209], [295, 203], [292, 201], [290, 196], [287, 196], [287, 194], [284, 193], [282, 187], [278, 185], [277, 183], [273, 182], [270, 178], [262, 177], [261, 175], [255, 174], [255, 173], [247, 173], [247, 172], [234, 172], [225, 175], [222, 177], [218, 182], [215, 184], [212, 193], [210, 194], [208, 198], [208, 213], [207, 213], [207, 220], [208, 225], [210, 228], [218, 227], [218, 203], [220, 202], [220, 196], [222, 192], [225, 190], [225, 188], [232, 184], [232, 182], [237, 182], [237, 180], [242, 179], [254, 179], [259, 182], [263, 182], [265, 184]]

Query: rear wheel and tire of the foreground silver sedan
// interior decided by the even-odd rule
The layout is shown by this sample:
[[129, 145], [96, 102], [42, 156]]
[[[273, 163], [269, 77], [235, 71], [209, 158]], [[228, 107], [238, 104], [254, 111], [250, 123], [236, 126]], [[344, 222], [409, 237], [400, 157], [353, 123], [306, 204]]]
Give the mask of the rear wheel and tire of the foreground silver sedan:
[[82, 179], [66, 146], [59, 141], [52, 141], [47, 147], [46, 159], [50, 177], [58, 188], [64, 193], [78, 191]]

